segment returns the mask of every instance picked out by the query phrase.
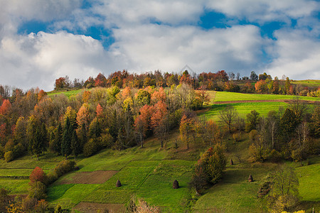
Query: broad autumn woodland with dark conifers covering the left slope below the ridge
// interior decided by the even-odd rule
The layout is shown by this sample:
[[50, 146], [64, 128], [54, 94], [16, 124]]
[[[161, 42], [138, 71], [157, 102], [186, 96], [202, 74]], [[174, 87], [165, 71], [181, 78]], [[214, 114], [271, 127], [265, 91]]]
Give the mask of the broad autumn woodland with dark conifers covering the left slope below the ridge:
[[38, 158], [52, 151], [66, 158], [89, 156], [101, 148], [128, 148], [155, 134], [163, 146], [183, 114], [208, 102], [206, 89], [188, 84], [170, 89], [117, 86], [83, 90], [68, 99], [43, 90], [1, 101], [0, 158], [6, 162], [29, 151]]

